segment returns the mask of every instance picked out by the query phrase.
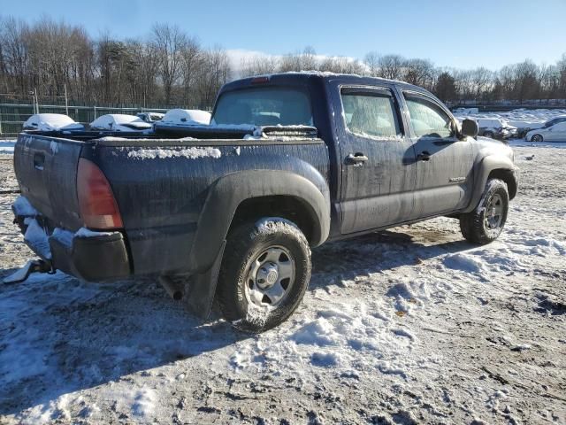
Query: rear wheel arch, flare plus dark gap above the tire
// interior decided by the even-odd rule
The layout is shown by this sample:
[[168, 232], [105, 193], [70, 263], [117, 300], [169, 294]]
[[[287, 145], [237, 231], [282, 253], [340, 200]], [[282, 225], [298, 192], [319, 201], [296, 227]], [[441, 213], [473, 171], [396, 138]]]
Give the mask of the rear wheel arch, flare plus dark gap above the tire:
[[234, 223], [266, 215], [299, 221], [295, 224], [311, 246], [325, 242], [330, 231], [330, 194], [320, 174], [310, 178], [290, 171], [249, 170], [218, 179], [198, 220], [191, 268], [200, 273], [210, 267]]

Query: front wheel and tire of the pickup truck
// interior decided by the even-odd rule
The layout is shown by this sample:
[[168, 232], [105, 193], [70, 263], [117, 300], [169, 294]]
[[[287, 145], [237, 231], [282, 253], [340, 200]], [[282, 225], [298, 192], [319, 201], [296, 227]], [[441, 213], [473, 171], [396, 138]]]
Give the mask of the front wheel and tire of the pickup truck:
[[478, 207], [460, 216], [460, 230], [471, 243], [485, 245], [498, 236], [507, 221], [509, 192], [507, 184], [499, 179], [489, 179]]

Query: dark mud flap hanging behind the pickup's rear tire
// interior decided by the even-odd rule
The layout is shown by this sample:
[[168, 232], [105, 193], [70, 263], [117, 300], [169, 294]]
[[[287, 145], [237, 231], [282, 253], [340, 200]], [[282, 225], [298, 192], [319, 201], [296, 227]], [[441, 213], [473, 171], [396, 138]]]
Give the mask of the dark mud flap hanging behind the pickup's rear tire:
[[185, 289], [185, 302], [188, 310], [202, 320], [208, 319], [210, 315], [225, 247], [226, 240], [220, 246], [212, 267], [203, 274], [193, 275]]

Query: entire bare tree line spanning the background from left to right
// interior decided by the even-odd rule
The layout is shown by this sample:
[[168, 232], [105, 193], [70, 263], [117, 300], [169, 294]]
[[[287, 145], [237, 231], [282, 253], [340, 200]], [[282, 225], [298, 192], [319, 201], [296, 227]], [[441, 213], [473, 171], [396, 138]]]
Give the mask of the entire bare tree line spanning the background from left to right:
[[213, 104], [233, 78], [288, 71], [357, 73], [407, 81], [443, 101], [566, 98], [566, 54], [555, 64], [521, 63], [491, 71], [434, 66], [428, 59], [368, 53], [363, 60], [317, 55], [310, 47], [283, 56], [244, 58], [238, 70], [226, 50], [205, 48], [180, 27], [155, 24], [147, 37], [93, 38], [82, 27], [45, 17], [33, 24], [0, 18], [0, 94], [72, 104]]

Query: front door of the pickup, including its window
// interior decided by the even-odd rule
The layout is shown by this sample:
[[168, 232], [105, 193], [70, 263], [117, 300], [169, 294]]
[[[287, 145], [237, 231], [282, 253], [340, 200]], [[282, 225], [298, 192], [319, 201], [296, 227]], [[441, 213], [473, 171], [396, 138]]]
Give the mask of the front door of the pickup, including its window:
[[444, 105], [420, 92], [403, 91], [417, 155], [413, 219], [451, 213], [468, 205], [473, 183], [473, 149], [456, 135]]

